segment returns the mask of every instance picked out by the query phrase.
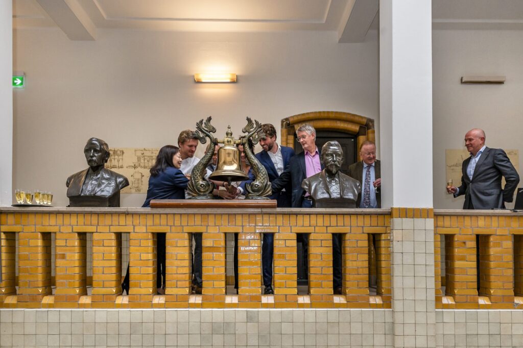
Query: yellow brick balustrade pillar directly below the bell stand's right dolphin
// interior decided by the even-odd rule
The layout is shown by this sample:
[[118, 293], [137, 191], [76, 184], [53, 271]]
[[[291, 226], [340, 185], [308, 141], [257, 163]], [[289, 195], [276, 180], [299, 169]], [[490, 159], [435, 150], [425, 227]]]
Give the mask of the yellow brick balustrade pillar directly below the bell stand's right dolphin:
[[238, 303], [261, 307], [261, 239], [259, 233], [238, 233]]

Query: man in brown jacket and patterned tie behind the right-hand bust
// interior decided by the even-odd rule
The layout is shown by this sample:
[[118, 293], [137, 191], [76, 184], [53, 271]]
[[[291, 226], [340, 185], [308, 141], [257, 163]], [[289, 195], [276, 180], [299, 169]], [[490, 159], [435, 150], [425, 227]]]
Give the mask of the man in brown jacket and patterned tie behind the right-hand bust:
[[[347, 175], [361, 183], [361, 193], [356, 206], [359, 208], [381, 208], [381, 165], [376, 159], [376, 144], [369, 140], [360, 145], [361, 161], [353, 163]], [[367, 175], [368, 173], [368, 175]]]

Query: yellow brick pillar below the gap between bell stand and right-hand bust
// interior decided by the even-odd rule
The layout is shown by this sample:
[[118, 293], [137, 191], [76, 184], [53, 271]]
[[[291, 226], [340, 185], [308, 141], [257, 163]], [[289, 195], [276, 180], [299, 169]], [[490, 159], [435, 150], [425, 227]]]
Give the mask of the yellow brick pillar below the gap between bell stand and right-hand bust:
[[274, 301], [276, 308], [298, 307], [298, 255], [296, 234], [274, 235]]

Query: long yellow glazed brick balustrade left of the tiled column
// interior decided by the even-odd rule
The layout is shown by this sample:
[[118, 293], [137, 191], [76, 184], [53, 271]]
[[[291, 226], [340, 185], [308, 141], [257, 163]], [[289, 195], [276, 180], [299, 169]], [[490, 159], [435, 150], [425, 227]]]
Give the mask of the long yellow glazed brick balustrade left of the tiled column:
[[[51, 284], [55, 234], [55, 285]], [[122, 233], [130, 292], [122, 296]], [[166, 234], [166, 291], [156, 295], [156, 234]], [[192, 234], [202, 234], [203, 293], [191, 295]], [[238, 295], [225, 294], [225, 235], [238, 233]], [[274, 233], [275, 295], [262, 295], [261, 234]], [[310, 236], [309, 293], [298, 295], [297, 234]], [[333, 295], [332, 234], [343, 240], [343, 294]], [[92, 235], [93, 287], [86, 291]], [[377, 296], [368, 236], [376, 235]], [[18, 273], [15, 284], [15, 237]], [[0, 208], [0, 307], [391, 308], [390, 210]], [[126, 265], [123, 265], [125, 269]], [[18, 285], [18, 290], [15, 288]]]

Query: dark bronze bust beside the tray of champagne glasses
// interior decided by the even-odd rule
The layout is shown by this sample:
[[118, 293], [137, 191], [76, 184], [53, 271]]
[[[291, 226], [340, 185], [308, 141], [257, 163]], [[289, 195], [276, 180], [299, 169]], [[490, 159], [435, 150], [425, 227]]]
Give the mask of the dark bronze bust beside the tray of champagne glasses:
[[105, 168], [109, 146], [98, 138], [90, 138], [84, 148], [89, 168], [67, 178], [70, 206], [120, 206], [120, 190], [129, 186], [123, 175]]

